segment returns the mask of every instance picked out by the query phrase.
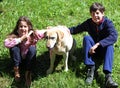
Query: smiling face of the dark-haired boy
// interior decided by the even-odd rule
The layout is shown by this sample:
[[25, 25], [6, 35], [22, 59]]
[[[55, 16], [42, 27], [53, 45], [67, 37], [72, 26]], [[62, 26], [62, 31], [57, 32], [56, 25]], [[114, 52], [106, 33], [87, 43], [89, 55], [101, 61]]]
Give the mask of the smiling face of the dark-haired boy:
[[100, 12], [99, 10], [96, 10], [95, 12], [90, 13], [93, 22], [95, 22], [96, 24], [99, 24], [104, 16], [104, 12]]

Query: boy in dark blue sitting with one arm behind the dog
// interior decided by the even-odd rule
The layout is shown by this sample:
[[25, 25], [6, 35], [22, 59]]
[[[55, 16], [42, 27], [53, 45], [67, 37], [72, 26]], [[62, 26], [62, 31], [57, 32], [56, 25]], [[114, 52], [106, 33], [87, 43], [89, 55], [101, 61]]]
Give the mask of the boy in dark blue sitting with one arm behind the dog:
[[[91, 18], [87, 19], [82, 24], [71, 27], [71, 34], [88, 32], [89, 36], [84, 36], [84, 64], [87, 66], [86, 83], [91, 84], [94, 77], [96, 62], [93, 59], [99, 59], [98, 55], [104, 58], [103, 72], [105, 74], [106, 87], [118, 87], [118, 84], [113, 82], [111, 73], [113, 65], [113, 44], [117, 41], [118, 33], [114, 28], [112, 21], [104, 16], [105, 8], [100, 3], [93, 3], [90, 6]], [[100, 58], [101, 60], [101, 58]]]

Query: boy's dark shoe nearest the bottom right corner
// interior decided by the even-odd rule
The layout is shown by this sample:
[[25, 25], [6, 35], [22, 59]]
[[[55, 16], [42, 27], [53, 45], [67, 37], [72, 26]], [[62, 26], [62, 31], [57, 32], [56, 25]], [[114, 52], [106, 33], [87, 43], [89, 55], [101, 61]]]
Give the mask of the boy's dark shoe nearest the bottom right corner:
[[118, 88], [118, 84], [112, 80], [111, 74], [105, 76], [105, 88]]

